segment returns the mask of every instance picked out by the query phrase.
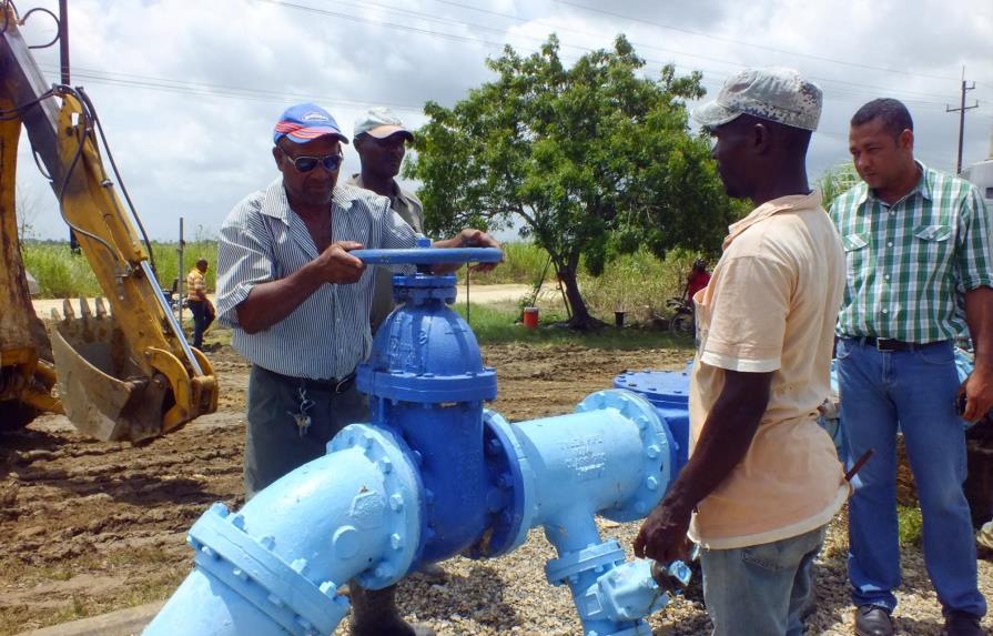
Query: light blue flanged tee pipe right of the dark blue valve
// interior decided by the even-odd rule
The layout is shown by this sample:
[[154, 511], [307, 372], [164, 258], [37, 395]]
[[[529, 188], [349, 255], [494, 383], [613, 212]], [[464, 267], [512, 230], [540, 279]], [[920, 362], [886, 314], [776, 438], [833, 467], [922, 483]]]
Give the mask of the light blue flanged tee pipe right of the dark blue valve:
[[[559, 555], [546, 565], [546, 576], [569, 586], [584, 634], [650, 634], [642, 617], [668, 598], [650, 562], [625, 565], [620, 545], [601, 541], [595, 515], [632, 521], [658, 503], [669, 484], [671, 434], [650, 403], [627, 391], [594, 393], [576, 411], [515, 424], [487, 412], [487, 426], [500, 432], [504, 447], [516, 455], [510, 463], [520, 466], [515, 494], [523, 514], [504, 551], [544, 526]], [[685, 566], [671, 574], [688, 582]]]

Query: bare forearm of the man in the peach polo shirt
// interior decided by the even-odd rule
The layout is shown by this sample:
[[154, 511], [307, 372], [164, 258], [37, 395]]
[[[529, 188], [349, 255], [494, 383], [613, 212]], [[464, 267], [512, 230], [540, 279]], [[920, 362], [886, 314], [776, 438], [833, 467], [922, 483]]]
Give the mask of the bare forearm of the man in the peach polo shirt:
[[731, 474], [748, 453], [769, 404], [771, 373], [728, 372], [703, 424], [692, 457], [679, 473], [662, 505], [691, 509]]

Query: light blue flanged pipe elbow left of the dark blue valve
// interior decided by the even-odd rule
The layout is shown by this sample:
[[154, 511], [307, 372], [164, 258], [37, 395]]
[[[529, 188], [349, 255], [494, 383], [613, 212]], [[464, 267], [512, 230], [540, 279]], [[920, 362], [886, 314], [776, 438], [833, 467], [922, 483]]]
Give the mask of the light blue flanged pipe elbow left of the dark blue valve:
[[348, 610], [337, 588], [406, 574], [420, 543], [420, 484], [402, 442], [347, 426], [328, 454], [237, 514], [215, 504], [190, 529], [195, 569], [148, 636], [326, 636]]

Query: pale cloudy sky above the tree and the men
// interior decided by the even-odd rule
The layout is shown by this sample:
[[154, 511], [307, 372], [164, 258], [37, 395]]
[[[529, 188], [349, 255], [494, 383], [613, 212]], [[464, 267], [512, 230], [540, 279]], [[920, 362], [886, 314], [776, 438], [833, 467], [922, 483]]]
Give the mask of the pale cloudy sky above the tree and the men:
[[[58, 0], [16, 0], [58, 11]], [[41, 12], [29, 44], [55, 32]], [[849, 120], [880, 97], [903, 101], [918, 158], [954, 171], [963, 73], [963, 165], [993, 149], [993, 2], [990, 0], [69, 0], [72, 84], [92, 99], [124, 184], [152, 239], [216, 235], [245, 195], [277, 175], [272, 127], [288, 105], [314, 101], [346, 135], [373, 105], [409, 128], [424, 103], [450, 107], [492, 80], [485, 60], [505, 44], [536, 51], [549, 33], [570, 63], [624, 33], [658, 77], [700, 71], [713, 99], [746, 67], [798, 69], [824, 91], [808, 155], [818, 179], [849, 160]], [[58, 46], [34, 50], [52, 82]], [[692, 105], [692, 104], [691, 104]], [[19, 201], [37, 238], [64, 238], [55, 198], [27, 135]], [[342, 174], [358, 171], [345, 148]], [[416, 189], [416, 183], [405, 183]], [[507, 240], [508, 236], [504, 236]]]

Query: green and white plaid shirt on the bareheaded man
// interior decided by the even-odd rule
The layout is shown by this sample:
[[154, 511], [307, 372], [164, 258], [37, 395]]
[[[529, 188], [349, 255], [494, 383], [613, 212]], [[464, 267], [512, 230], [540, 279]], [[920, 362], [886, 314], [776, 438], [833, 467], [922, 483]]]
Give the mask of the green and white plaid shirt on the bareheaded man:
[[848, 260], [838, 334], [929, 343], [966, 333], [963, 293], [993, 286], [990, 211], [979, 189], [918, 164], [892, 205], [860, 183], [831, 205]]

